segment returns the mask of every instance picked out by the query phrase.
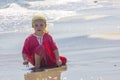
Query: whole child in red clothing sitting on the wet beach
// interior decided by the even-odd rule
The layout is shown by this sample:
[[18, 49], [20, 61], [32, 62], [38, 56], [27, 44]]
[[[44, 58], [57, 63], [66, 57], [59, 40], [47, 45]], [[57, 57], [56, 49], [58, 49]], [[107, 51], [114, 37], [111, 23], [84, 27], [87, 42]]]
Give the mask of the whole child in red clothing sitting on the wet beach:
[[26, 38], [22, 49], [23, 64], [28, 65], [30, 62], [35, 69], [65, 65], [66, 58], [59, 56], [58, 47], [47, 33], [45, 17], [39, 13], [35, 14], [32, 18], [32, 28], [34, 33]]

